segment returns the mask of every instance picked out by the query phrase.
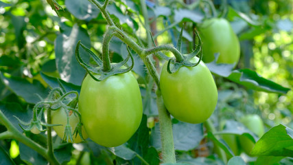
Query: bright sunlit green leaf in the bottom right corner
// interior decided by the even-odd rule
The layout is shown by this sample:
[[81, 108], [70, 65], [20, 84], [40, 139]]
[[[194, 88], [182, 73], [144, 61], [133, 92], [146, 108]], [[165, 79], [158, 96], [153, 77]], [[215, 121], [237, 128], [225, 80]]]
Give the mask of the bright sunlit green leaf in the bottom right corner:
[[251, 155], [293, 157], [292, 131], [282, 124], [274, 126], [257, 141]]

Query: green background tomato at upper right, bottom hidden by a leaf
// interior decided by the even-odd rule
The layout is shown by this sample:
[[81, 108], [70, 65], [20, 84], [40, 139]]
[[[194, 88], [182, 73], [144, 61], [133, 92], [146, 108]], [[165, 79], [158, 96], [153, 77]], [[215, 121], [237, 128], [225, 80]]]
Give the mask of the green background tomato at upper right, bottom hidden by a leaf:
[[240, 45], [236, 34], [226, 19], [213, 18], [204, 21], [199, 27], [202, 39], [202, 61], [210, 63], [214, 54], [220, 53], [217, 63], [235, 65], [239, 61]]

